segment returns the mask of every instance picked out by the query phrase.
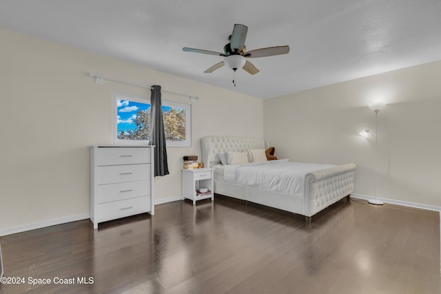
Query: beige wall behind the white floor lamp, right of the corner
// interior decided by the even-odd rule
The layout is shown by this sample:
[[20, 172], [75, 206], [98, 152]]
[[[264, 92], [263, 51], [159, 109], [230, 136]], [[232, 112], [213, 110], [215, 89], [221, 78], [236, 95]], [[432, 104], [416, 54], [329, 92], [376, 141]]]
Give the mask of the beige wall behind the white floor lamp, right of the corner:
[[264, 136], [276, 156], [296, 161], [354, 162], [355, 193], [375, 195], [378, 114], [379, 198], [441, 208], [441, 61], [359, 78], [264, 101]]

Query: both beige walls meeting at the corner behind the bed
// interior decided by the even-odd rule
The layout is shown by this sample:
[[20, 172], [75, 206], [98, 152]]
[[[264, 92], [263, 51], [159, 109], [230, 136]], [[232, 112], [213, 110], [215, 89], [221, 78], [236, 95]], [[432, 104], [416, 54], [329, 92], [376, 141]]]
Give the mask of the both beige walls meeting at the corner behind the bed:
[[265, 136], [291, 160], [355, 162], [355, 192], [372, 196], [374, 141], [357, 134], [375, 129], [366, 105], [383, 96], [378, 196], [441, 207], [441, 61], [261, 101], [10, 30], [0, 39], [0, 235], [88, 215], [88, 147], [112, 143], [112, 91], [150, 96], [88, 72], [201, 97], [192, 147], [169, 147], [171, 174], [155, 178], [158, 201], [181, 195], [181, 156], [200, 155], [209, 135]]

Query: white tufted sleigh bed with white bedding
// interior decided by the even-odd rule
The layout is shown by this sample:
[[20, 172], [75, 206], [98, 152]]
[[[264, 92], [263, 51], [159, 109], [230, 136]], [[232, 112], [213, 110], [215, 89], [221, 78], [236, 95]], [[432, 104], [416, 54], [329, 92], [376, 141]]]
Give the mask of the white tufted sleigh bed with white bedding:
[[237, 165], [220, 162], [225, 161], [224, 154], [248, 152], [249, 156], [250, 151], [268, 147], [269, 143], [263, 138], [201, 138], [202, 161], [205, 167], [214, 168], [214, 193], [298, 213], [309, 223], [319, 211], [342, 198], [349, 199], [356, 169], [353, 163], [320, 165], [287, 159], [252, 163], [239, 160]]

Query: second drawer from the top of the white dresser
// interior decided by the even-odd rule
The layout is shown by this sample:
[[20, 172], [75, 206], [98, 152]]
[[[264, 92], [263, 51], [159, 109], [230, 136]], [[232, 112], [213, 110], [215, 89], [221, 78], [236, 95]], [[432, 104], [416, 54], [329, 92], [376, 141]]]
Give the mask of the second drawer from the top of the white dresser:
[[150, 164], [145, 165], [112, 165], [96, 167], [96, 184], [112, 184], [116, 182], [131, 182], [134, 180], [149, 180]]

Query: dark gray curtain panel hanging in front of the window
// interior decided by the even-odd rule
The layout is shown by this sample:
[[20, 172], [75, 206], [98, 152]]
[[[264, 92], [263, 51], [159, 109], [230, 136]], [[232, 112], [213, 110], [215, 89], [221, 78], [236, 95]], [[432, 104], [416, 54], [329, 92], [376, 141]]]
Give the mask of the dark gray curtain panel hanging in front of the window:
[[150, 105], [152, 109], [150, 109], [149, 144], [156, 146], [154, 148], [154, 176], [165, 176], [169, 174], [169, 172], [167, 165], [167, 149], [165, 148], [161, 86], [152, 86]]

